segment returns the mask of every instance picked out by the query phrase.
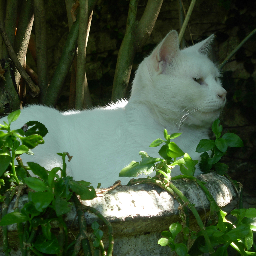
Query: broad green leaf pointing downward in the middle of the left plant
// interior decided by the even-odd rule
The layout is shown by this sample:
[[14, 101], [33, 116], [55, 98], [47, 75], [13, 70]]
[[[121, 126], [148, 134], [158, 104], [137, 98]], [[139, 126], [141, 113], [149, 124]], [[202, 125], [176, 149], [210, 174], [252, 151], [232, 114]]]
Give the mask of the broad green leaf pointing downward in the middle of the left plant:
[[42, 212], [45, 208], [47, 208], [54, 198], [53, 193], [48, 191], [30, 193], [29, 197], [39, 212]]

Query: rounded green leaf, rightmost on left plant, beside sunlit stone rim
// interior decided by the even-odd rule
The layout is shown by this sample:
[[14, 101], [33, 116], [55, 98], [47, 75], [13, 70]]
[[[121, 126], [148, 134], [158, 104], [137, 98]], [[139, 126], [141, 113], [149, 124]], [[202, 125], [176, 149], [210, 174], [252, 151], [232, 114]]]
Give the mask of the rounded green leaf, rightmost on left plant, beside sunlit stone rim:
[[82, 200], [91, 200], [96, 197], [95, 189], [89, 186], [90, 182], [70, 180], [69, 185], [71, 190], [80, 195]]

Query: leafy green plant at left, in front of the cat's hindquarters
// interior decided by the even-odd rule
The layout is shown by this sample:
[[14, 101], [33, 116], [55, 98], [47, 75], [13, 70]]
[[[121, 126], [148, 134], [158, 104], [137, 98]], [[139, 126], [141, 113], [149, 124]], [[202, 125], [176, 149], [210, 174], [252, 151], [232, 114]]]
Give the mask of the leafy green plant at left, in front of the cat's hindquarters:
[[[18, 188], [17, 204], [21, 190], [29, 188], [28, 202], [21, 209], [16, 208], [13, 212], [7, 213], [8, 207], [6, 207], [2, 212], [0, 226], [4, 231], [5, 254], [9, 255], [7, 226], [17, 224], [20, 249], [24, 255], [28, 250], [36, 255], [42, 253], [62, 255], [63, 252], [67, 253], [71, 250], [77, 255], [80, 246], [76, 247], [74, 242], [68, 244], [68, 228], [64, 215], [70, 211], [71, 201], [81, 207], [76, 195], [82, 200], [90, 200], [96, 197], [95, 189], [89, 182], [75, 181], [66, 175], [65, 158], [69, 156], [68, 153], [58, 153], [62, 157], [62, 168], [55, 167], [48, 171], [33, 162], [28, 162], [28, 166], [24, 166], [20, 155], [33, 154], [31, 149], [44, 143], [43, 137], [47, 134], [47, 129], [40, 122], [31, 121], [24, 127], [25, 131], [11, 130], [11, 123], [17, 120], [19, 115], [19, 110], [11, 113], [7, 117], [8, 123], [4, 122], [0, 125], [1, 200], [8, 206]], [[33, 173], [33, 177], [30, 173]], [[100, 218], [102, 219], [103, 216], [100, 215]], [[56, 223], [59, 230], [56, 230]], [[86, 228], [84, 225], [83, 227]], [[92, 228], [93, 247], [100, 248], [104, 252], [101, 242], [103, 232], [96, 222], [93, 223]], [[79, 234], [77, 237], [78, 241], [85, 239], [88, 237], [84, 234]], [[90, 247], [85, 247], [84, 253], [90, 251]]]

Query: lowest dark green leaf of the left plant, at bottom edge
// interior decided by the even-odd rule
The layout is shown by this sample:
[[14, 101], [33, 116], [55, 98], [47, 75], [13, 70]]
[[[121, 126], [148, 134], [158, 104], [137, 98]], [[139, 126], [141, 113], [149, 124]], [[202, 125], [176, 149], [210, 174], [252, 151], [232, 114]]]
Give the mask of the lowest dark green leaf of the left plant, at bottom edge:
[[43, 235], [39, 235], [34, 246], [38, 251], [46, 254], [58, 254], [60, 251], [59, 242], [56, 236], [52, 236], [52, 239], [48, 240]]

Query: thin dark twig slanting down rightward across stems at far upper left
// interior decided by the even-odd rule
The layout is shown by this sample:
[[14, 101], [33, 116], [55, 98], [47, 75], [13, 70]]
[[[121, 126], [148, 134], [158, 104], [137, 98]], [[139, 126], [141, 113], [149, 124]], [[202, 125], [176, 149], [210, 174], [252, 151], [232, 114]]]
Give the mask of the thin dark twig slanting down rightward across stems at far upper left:
[[5, 30], [4, 30], [4, 26], [3, 26], [3, 23], [2, 21], [0, 20], [0, 33], [2, 35], [2, 38], [4, 40], [4, 43], [6, 45], [6, 48], [7, 48], [7, 51], [9, 53], [9, 56], [10, 58], [12, 59], [15, 67], [18, 69], [18, 71], [20, 72], [21, 76], [25, 79], [25, 81], [28, 83], [31, 91], [32, 91], [32, 96], [35, 97], [39, 94], [40, 92], [40, 89], [37, 85], [35, 85], [33, 83], [33, 81], [31, 80], [31, 78], [29, 77], [29, 75], [26, 73], [26, 71], [24, 70], [24, 68], [21, 66], [14, 50], [13, 50], [13, 47], [5, 33]]

